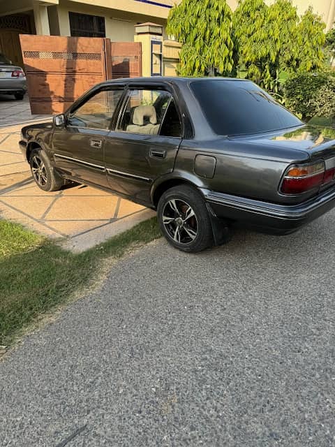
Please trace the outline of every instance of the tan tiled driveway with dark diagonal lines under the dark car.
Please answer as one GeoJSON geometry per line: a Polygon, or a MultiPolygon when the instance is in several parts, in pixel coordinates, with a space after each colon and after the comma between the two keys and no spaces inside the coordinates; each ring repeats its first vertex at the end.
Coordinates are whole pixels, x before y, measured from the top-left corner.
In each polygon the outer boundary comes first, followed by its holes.
{"type": "Polygon", "coordinates": [[[21,127],[0,128],[0,217],[49,237],[66,238],[65,247],[82,250],[154,215],[140,205],[88,186],[45,193],[31,178],[17,145],[21,127]]]}

